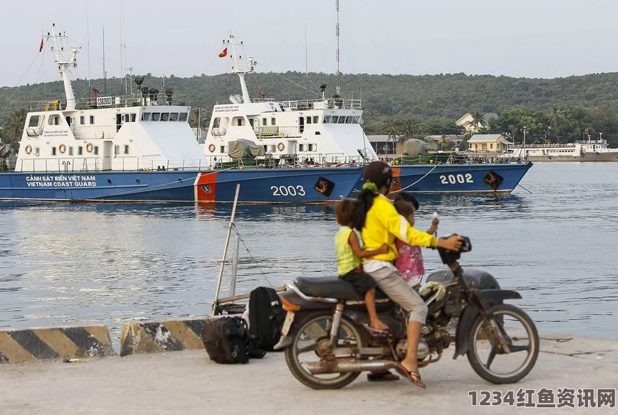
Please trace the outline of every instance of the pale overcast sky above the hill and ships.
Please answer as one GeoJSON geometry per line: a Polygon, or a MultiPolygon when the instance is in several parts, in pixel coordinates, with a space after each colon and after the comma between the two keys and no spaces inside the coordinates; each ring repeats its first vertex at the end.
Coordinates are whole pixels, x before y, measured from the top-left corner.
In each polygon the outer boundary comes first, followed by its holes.
{"type": "MultiPolygon", "coordinates": [[[[565,77],[618,71],[617,0],[340,0],[341,72],[565,77]]],[[[235,33],[260,72],[336,72],[334,0],[5,0],[0,86],[58,79],[52,24],[82,47],[76,77],[226,72],[235,33]],[[86,29],[86,28],[89,29],[86,29]],[[121,36],[122,33],[122,36],[121,36]],[[88,43],[90,47],[88,48],[88,43]],[[89,49],[89,53],[88,53],[89,49]],[[307,53],[305,53],[305,49],[307,53]],[[89,61],[89,70],[88,70],[89,61]],[[30,68],[29,68],[30,65],[30,68]],[[126,70],[125,70],[126,72],[126,70]],[[21,79],[21,80],[20,80],[21,79]]]]}

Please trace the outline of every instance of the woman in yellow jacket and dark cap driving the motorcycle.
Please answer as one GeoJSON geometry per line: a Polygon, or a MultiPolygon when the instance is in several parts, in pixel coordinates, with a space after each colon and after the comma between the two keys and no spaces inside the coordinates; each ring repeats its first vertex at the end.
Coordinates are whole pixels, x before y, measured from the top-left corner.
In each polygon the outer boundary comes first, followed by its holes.
{"type": "Polygon", "coordinates": [[[387,253],[366,258],[363,269],[376,280],[380,290],[409,313],[408,349],[405,359],[399,363],[396,370],[413,384],[425,388],[418,371],[417,348],[421,329],[427,317],[427,306],[418,293],[399,276],[393,265],[397,258],[395,240],[399,239],[410,245],[458,251],[462,239],[456,235],[438,239],[412,228],[408,220],[397,213],[386,197],[392,183],[392,169],[387,163],[367,164],[363,170],[363,179],[363,189],[358,196],[355,227],[361,232],[365,249],[378,249],[383,244],[389,246],[387,253]]]}

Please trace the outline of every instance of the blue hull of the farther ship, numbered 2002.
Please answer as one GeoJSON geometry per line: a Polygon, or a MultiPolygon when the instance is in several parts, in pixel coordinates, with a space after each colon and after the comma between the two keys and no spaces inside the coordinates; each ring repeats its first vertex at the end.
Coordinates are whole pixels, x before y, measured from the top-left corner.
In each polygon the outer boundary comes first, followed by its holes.
{"type": "MultiPolygon", "coordinates": [[[[532,163],[393,166],[392,191],[509,194],[530,167],[532,163]]],[[[356,186],[361,188],[362,180],[356,186]]]]}

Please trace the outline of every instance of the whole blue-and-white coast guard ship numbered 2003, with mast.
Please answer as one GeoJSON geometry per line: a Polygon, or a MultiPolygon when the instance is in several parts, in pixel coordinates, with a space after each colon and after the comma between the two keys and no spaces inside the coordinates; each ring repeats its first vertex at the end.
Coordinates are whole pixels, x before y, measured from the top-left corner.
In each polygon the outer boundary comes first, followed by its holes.
{"type": "Polygon", "coordinates": [[[142,78],[137,94],[77,100],[77,48],[53,26],[45,39],[65,98],[29,104],[15,166],[0,173],[1,200],[227,202],[240,182],[242,202],[320,203],[348,196],[360,178],[359,166],[215,171],[189,126],[187,97],[142,78]]]}

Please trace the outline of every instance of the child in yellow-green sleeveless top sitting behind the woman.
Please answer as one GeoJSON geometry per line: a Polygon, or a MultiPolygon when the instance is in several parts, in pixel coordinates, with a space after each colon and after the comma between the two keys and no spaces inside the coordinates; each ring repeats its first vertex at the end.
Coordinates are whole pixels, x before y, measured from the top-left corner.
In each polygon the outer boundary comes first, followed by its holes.
{"type": "Polygon", "coordinates": [[[339,232],[334,237],[335,251],[337,251],[337,274],[341,279],[354,285],[359,295],[363,295],[367,312],[369,313],[369,326],[372,329],[384,331],[388,329],[376,312],[376,281],[369,274],[362,270],[361,258],[386,253],[387,244],[383,244],[378,249],[366,250],[360,246],[360,238],[353,230],[356,201],[354,199],[343,199],[335,206],[337,214],[337,224],[341,226],[339,232]]]}

